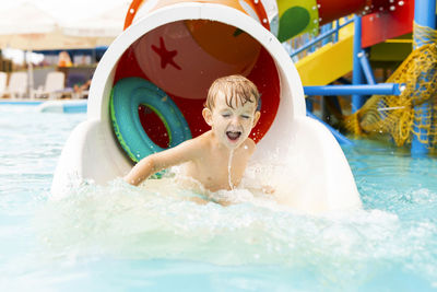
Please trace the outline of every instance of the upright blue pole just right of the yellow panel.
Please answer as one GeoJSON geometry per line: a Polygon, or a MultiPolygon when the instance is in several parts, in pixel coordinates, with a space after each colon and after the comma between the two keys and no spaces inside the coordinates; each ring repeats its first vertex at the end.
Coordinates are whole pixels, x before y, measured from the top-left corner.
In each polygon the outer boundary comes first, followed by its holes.
{"type": "MultiPolygon", "coordinates": [[[[354,16],[354,50],[353,50],[353,71],[352,71],[352,84],[358,85],[364,83],[363,68],[359,62],[359,52],[362,51],[362,17],[354,16]]],[[[352,95],[352,113],[355,113],[364,105],[364,96],[354,94],[352,95]]]]}

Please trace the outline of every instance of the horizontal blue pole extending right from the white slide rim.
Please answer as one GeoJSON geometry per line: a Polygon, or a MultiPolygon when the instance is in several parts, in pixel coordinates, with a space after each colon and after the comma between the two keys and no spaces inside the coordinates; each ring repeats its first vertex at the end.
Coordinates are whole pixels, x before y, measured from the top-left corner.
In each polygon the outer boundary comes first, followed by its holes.
{"type": "Polygon", "coordinates": [[[398,83],[380,83],[375,85],[323,85],[304,86],[305,95],[400,95],[398,83]]]}

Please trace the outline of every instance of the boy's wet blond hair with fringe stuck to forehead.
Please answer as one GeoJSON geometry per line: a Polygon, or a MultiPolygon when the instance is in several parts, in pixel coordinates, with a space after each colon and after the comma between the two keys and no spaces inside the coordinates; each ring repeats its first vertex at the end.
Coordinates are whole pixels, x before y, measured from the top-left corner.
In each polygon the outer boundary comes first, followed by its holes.
{"type": "Polygon", "coordinates": [[[257,86],[247,78],[243,75],[228,75],[216,79],[209,92],[204,106],[213,109],[215,98],[218,92],[223,92],[226,97],[226,105],[234,108],[236,106],[245,105],[246,103],[255,103],[258,106],[260,94],[257,86]],[[235,101],[235,102],[234,102],[235,101]]]}

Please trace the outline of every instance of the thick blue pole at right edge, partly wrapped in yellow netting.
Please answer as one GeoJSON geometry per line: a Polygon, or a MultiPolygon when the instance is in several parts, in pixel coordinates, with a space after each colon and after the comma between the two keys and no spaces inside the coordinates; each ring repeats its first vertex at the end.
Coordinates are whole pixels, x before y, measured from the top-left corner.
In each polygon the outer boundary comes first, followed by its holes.
{"type": "MultiPolygon", "coordinates": [[[[415,0],[414,1],[414,21],[421,26],[427,26],[436,30],[436,0],[415,0]]],[[[432,39],[424,39],[424,34],[417,35],[414,32],[414,43],[416,47],[422,47],[432,39]]],[[[418,77],[421,80],[421,77],[418,77]]],[[[424,72],[422,79],[426,79],[426,72],[424,72]]],[[[416,86],[420,91],[420,85],[416,86]]],[[[414,107],[414,127],[413,127],[413,140],[411,143],[411,154],[413,156],[424,156],[429,152],[429,130],[426,128],[430,122],[433,115],[433,108],[429,103],[423,103],[414,107]]]]}

